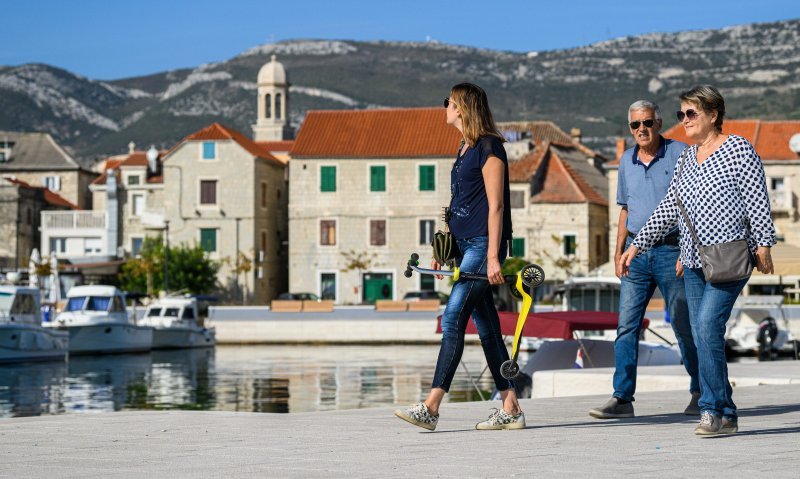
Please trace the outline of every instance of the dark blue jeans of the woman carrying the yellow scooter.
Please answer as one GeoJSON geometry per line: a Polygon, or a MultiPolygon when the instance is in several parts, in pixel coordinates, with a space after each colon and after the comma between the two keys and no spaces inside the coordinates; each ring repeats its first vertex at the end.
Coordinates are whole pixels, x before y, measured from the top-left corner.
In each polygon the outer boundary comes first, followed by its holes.
{"type": "MultiPolygon", "coordinates": [[[[501,243],[499,259],[502,265],[507,247],[504,241],[501,243]]],[[[486,236],[458,240],[461,256],[456,258],[456,264],[461,271],[486,274],[488,246],[489,238],[486,236]]],[[[494,307],[489,281],[463,278],[453,285],[450,299],[442,315],[442,347],[439,349],[439,359],[436,361],[436,372],[431,387],[450,390],[450,383],[464,352],[464,332],[470,316],[478,329],[483,354],[486,356],[495,386],[499,391],[513,387],[513,383],[500,374],[500,365],[508,360],[508,351],[500,332],[500,318],[494,307]]]]}

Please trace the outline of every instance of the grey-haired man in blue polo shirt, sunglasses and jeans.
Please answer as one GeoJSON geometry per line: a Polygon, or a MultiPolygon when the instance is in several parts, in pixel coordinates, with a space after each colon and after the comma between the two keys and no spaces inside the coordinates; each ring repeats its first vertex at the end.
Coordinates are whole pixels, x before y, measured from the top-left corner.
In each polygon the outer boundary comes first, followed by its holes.
{"type": "MultiPolygon", "coordinates": [[[[685,143],[668,140],[659,134],[661,111],[655,103],[640,100],[628,108],[628,124],[636,146],[626,150],[619,160],[617,204],[622,206],[617,229],[617,249],[614,264],[628,248],[636,233],[644,226],[661,200],[666,196],[675,173],[675,164],[685,143]]],[[[636,257],[630,274],[622,276],[620,289],[619,324],[614,342],[616,370],[614,395],[602,407],[589,410],[598,419],[633,417],[633,394],[636,391],[636,366],[639,360],[639,336],[645,309],[655,288],[661,291],[667,314],[681,350],[683,364],[691,377],[689,391],[692,399],[684,411],[699,415],[700,383],[697,378],[697,349],[689,325],[686,291],[683,286],[683,267],[678,246],[678,228],[669,232],[656,245],[636,257]]]]}

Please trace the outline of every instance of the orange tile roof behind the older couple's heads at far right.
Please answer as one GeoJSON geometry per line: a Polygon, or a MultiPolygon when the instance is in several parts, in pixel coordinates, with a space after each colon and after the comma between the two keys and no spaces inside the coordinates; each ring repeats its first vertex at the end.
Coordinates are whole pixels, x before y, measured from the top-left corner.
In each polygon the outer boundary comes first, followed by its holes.
{"type": "MultiPolygon", "coordinates": [[[[747,138],[764,161],[800,159],[789,149],[789,140],[800,133],[800,120],[725,120],[722,133],[747,138]]],[[[665,131],[664,136],[692,143],[680,123],[665,131]]]]}

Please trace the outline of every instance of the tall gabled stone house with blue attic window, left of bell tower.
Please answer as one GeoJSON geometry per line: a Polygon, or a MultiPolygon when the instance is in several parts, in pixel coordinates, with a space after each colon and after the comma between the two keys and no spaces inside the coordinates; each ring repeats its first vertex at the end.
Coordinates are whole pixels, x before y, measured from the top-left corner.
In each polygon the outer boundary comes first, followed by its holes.
{"type": "Polygon", "coordinates": [[[230,299],[264,304],[286,290],[286,163],[219,123],[162,158],[163,210],[171,244],[199,244],[220,261],[230,299]],[[252,270],[235,265],[251,262],[252,270]]]}

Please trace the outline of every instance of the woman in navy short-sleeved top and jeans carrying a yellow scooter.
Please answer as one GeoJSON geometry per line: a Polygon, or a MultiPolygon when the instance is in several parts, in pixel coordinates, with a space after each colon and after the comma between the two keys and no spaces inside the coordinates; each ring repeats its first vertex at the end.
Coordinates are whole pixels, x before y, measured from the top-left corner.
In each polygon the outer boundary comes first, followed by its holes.
{"type": "MultiPolygon", "coordinates": [[[[464,350],[464,332],[472,316],[494,378],[502,407],[477,429],[522,429],[525,415],[517,401],[514,384],[500,374],[508,351],[500,333],[500,319],[492,300],[490,284],[503,283],[501,265],[511,239],[508,160],[504,138],[497,130],[486,92],[477,85],[460,83],[445,98],[447,123],[457,128],[463,140],[450,172],[450,231],[456,237],[462,271],[481,273],[486,280],[460,279],[453,285],[442,316],[442,346],[433,384],[427,399],[395,415],[416,426],[434,430],[439,405],[450,389],[464,350]]],[[[434,260],[431,267],[439,269],[434,260]]],[[[441,279],[441,278],[440,278],[441,279]]]]}

